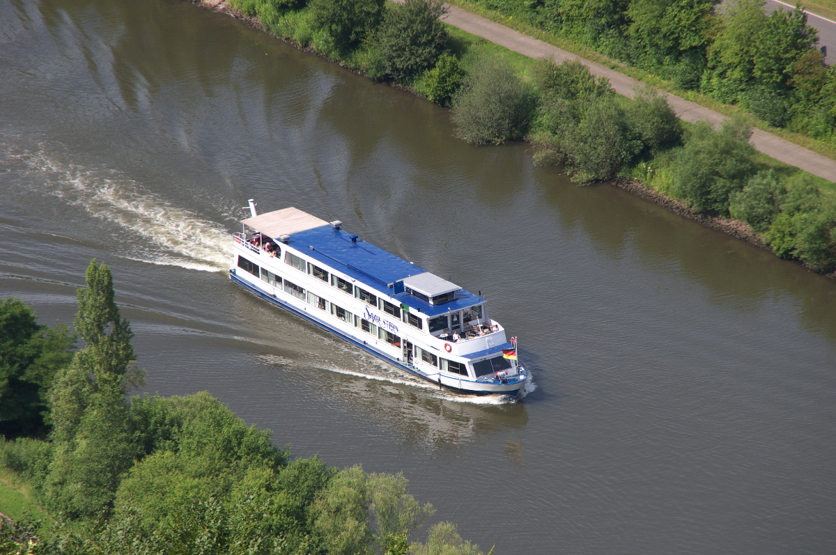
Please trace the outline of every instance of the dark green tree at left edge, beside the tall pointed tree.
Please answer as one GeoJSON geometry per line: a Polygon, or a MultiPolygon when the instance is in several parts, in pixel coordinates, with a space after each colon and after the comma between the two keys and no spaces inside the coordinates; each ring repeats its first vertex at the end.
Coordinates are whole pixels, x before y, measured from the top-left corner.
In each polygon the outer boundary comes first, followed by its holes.
{"type": "Polygon", "coordinates": [[[69,328],[38,324],[20,299],[0,302],[0,434],[33,433],[49,423],[48,391],[74,343],[69,328]]]}

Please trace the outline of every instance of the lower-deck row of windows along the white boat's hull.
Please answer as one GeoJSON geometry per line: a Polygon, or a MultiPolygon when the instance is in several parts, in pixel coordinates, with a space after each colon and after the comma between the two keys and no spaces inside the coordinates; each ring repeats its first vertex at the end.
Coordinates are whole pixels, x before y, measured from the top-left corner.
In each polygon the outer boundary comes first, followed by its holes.
{"type": "MultiPolygon", "coordinates": [[[[362,329],[366,334],[370,334],[377,339],[381,339],[393,347],[401,346],[400,337],[391,333],[388,329],[380,328],[374,323],[371,323],[369,320],[360,318],[357,314],[352,314],[345,308],[319,297],[319,295],[315,295],[310,291],[306,292],[304,288],[299,287],[287,279],[283,280],[281,276],[277,276],[266,268],[259,267],[256,263],[250,262],[245,257],[238,257],[238,267],[252,273],[252,275],[256,277],[260,277],[263,281],[272,285],[274,288],[281,288],[285,293],[303,300],[314,308],[319,308],[319,310],[330,313],[332,316],[345,323],[354,325],[355,328],[362,329]]],[[[432,366],[441,368],[446,372],[461,374],[463,376],[467,375],[467,367],[465,364],[461,364],[455,360],[442,359],[441,357],[437,357],[435,354],[432,354],[430,351],[421,349],[418,346],[415,346],[415,357],[420,358],[426,364],[431,364],[432,366]]]]}

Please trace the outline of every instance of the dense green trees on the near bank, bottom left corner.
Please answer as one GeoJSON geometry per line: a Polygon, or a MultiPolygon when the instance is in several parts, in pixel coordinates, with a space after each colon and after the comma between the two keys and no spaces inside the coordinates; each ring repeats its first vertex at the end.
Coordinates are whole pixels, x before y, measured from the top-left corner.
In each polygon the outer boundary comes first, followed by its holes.
{"type": "Polygon", "coordinates": [[[435,509],[403,473],[294,459],[205,391],[129,397],[144,372],[110,269],[85,282],[78,335],[0,301],[0,553],[482,555],[451,522],[415,539],[435,509]]]}

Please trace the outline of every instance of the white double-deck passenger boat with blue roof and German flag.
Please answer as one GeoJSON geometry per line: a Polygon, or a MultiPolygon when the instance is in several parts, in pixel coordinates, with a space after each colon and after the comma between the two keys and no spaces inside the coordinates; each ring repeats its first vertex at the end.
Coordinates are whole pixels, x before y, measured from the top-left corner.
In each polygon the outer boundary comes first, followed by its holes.
{"type": "Polygon", "coordinates": [[[232,281],[439,388],[516,396],[517,341],[485,299],[324,221],[284,208],[242,220],[232,281]]]}

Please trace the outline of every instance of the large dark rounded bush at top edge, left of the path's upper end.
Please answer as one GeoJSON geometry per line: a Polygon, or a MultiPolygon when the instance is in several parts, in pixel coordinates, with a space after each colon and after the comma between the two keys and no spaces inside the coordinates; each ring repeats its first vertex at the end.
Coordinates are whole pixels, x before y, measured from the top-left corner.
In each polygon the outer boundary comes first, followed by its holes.
{"type": "Polygon", "coordinates": [[[438,20],[441,0],[406,0],[392,4],[370,41],[367,73],[372,79],[408,83],[436,64],[450,37],[438,20]]]}

